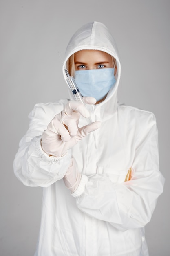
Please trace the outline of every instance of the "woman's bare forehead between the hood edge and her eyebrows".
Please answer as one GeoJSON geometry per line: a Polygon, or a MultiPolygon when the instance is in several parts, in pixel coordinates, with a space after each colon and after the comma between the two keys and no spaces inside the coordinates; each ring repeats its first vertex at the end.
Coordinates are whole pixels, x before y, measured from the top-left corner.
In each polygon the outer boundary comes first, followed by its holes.
{"type": "Polygon", "coordinates": [[[75,61],[83,61],[90,59],[97,61],[111,61],[112,57],[110,54],[98,50],[81,50],[75,53],[75,61]]]}

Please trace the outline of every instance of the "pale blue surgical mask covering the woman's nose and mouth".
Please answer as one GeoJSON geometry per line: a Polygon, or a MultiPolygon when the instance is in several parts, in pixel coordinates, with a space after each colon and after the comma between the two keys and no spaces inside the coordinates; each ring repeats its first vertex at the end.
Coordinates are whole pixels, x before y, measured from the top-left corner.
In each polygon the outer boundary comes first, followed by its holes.
{"type": "Polygon", "coordinates": [[[75,71],[75,82],[83,96],[104,98],[115,84],[114,68],[75,71]]]}

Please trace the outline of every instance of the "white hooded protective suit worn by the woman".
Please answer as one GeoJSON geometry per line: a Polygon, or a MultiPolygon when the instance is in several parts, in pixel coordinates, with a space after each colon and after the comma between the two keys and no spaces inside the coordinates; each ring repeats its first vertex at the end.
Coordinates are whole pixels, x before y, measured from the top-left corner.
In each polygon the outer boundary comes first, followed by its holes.
{"type": "MultiPolygon", "coordinates": [[[[24,185],[43,187],[35,255],[148,256],[144,226],[150,221],[164,182],[159,172],[155,116],[117,103],[120,62],[115,43],[102,23],[88,23],[74,34],[64,63],[82,49],[97,49],[114,56],[117,82],[102,103],[87,105],[92,120],[101,121],[102,126],[64,157],[46,155],[40,140],[68,99],[36,104],[29,115],[29,130],[20,141],[14,171],[24,185]],[[62,179],[71,157],[82,173],[72,194],[62,179]],[[124,182],[129,168],[131,180],[124,182]]],[[[79,126],[85,124],[81,117],[79,126]]]]}

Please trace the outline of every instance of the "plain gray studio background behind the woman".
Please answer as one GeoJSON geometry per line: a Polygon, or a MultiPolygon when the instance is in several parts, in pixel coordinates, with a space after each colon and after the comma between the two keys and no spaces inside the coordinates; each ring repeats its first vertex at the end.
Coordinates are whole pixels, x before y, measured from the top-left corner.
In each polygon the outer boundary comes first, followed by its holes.
{"type": "Polygon", "coordinates": [[[0,255],[32,256],[42,189],[13,174],[18,143],[35,103],[68,97],[62,63],[68,40],[84,23],[103,22],[121,57],[119,101],[155,113],[165,190],[146,226],[150,256],[169,256],[169,0],[0,1],[0,255]]]}

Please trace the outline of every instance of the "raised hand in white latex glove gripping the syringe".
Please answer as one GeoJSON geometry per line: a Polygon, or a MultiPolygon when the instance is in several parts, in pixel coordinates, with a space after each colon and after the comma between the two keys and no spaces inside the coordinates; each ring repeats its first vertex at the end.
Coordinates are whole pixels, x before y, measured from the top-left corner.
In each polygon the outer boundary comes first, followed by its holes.
{"type": "MultiPolygon", "coordinates": [[[[95,104],[93,97],[84,97],[84,102],[95,104]]],[[[81,128],[78,127],[80,115],[89,117],[89,112],[78,101],[69,101],[60,114],[55,115],[42,135],[42,149],[48,155],[61,157],[83,137],[97,130],[101,122],[95,121],[81,128]]]]}

